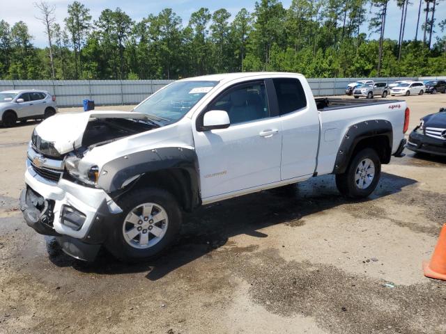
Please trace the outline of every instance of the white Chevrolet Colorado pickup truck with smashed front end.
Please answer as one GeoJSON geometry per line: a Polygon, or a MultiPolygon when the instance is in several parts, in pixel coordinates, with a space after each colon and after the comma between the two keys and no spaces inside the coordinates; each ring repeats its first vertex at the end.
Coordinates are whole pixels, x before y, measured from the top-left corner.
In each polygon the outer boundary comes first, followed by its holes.
{"type": "Polygon", "coordinates": [[[406,102],[314,99],[292,73],[175,81],[132,112],[62,113],[28,147],[20,207],[63,250],[93,260],[105,246],[144,260],[175,239],[181,212],[323,174],[344,196],[374,191],[400,157],[406,102]]]}

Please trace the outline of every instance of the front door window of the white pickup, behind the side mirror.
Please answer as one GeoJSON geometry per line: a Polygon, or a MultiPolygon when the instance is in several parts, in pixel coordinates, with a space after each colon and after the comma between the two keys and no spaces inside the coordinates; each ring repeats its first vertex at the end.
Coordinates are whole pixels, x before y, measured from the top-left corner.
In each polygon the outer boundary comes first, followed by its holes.
{"type": "Polygon", "coordinates": [[[263,82],[239,86],[213,101],[208,110],[224,110],[231,125],[270,117],[268,97],[263,82]]]}

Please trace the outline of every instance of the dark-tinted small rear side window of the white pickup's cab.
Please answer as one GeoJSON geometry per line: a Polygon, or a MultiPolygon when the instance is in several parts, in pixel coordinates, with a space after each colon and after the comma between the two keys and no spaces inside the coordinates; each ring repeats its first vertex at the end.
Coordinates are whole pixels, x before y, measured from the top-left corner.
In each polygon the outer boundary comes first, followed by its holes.
{"type": "Polygon", "coordinates": [[[307,106],[304,88],[298,79],[272,79],[279,103],[279,114],[285,115],[307,106]]]}

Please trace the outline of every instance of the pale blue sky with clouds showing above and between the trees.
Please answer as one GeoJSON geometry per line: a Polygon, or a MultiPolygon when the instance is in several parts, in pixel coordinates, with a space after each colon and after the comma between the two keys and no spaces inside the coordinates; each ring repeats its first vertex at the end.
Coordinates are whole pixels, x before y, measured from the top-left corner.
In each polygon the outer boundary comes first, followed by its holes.
{"type": "MultiPolygon", "coordinates": [[[[33,43],[38,47],[45,47],[47,44],[47,39],[44,33],[44,26],[42,22],[36,19],[38,16],[38,10],[34,8],[33,3],[36,0],[7,0],[2,5],[0,11],[0,19],[5,19],[6,22],[13,25],[15,22],[20,20],[24,21],[29,26],[29,31],[31,35],[34,36],[33,43]]],[[[63,19],[67,15],[67,6],[72,3],[73,0],[47,0],[48,3],[56,6],[56,22],[63,24],[63,19]]],[[[120,7],[125,11],[132,19],[139,21],[146,17],[148,14],[159,13],[163,8],[172,8],[180,17],[183,18],[183,24],[187,24],[190,15],[195,10],[201,7],[209,8],[211,12],[222,8],[228,10],[233,16],[236,15],[240,8],[247,8],[250,12],[254,10],[255,0],[225,0],[225,1],[204,1],[204,0],[164,0],[164,1],[150,1],[150,0],[127,0],[127,1],[117,1],[117,0],[84,0],[82,1],[86,7],[90,9],[93,19],[97,19],[100,12],[105,8],[115,9],[120,7]]],[[[407,19],[406,19],[406,30],[404,33],[405,39],[413,39],[415,37],[415,29],[417,25],[417,13],[420,0],[413,0],[414,4],[409,6],[407,19]]],[[[289,8],[291,0],[282,0],[284,8],[289,8]]],[[[424,3],[424,1],[423,1],[424,3]]],[[[369,6],[369,5],[368,5],[369,6]]],[[[424,6],[424,5],[422,5],[424,6]]],[[[369,7],[367,9],[370,9],[369,7]]],[[[420,29],[418,31],[418,36],[422,38],[421,24],[423,22],[424,16],[422,11],[422,18],[420,19],[420,29]]],[[[436,6],[436,22],[440,19],[446,17],[446,2],[440,2],[440,5],[436,6]]],[[[390,4],[387,11],[387,19],[385,26],[385,38],[392,38],[398,40],[399,35],[399,22],[401,19],[401,10],[397,8],[396,1],[390,0],[390,4]]],[[[434,34],[433,42],[435,42],[435,36],[440,35],[440,29],[437,30],[438,33],[434,34]]],[[[362,33],[367,33],[369,35],[368,22],[364,22],[361,27],[362,33]]],[[[370,38],[379,38],[379,35],[373,33],[369,35],[370,38]]],[[[433,43],[432,42],[432,43],[433,43]]]]}

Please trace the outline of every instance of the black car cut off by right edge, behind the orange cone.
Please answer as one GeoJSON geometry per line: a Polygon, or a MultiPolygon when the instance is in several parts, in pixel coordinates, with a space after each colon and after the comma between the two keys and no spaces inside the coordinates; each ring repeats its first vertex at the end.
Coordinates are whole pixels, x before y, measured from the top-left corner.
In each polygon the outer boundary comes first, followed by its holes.
{"type": "Polygon", "coordinates": [[[407,148],[414,152],[446,156],[446,109],[424,116],[410,133],[407,148]]]}

